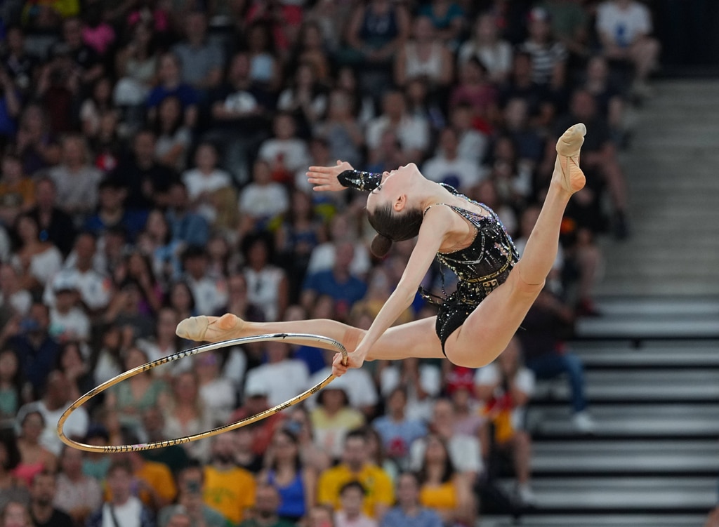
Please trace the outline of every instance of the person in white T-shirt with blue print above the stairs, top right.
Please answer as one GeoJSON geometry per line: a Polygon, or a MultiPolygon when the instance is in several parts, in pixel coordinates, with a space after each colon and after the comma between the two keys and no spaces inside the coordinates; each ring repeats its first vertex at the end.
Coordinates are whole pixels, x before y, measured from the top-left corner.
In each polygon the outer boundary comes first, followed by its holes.
{"type": "Polygon", "coordinates": [[[633,93],[651,95],[646,81],[656,68],[661,46],[651,37],[649,8],[636,0],[603,1],[597,6],[596,29],[606,58],[633,65],[633,93]]]}

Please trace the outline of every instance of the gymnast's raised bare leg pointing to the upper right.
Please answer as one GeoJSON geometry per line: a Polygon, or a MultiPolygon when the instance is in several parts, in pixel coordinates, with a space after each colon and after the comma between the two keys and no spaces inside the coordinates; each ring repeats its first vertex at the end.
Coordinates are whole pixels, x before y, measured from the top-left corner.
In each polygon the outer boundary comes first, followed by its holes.
{"type": "Polygon", "coordinates": [[[447,339],[447,358],[455,364],[481,367],[492,362],[507,347],[544,287],[544,279],[557,257],[564,208],[572,194],[585,185],[579,162],[586,131],[584,124],[575,124],[557,141],[549,192],[521,260],[507,281],[490,293],[447,339]]]}

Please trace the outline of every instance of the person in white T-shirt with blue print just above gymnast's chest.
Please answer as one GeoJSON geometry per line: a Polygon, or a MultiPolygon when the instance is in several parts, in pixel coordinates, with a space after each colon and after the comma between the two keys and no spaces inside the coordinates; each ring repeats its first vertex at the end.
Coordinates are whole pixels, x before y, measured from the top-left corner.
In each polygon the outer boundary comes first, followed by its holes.
{"type": "Polygon", "coordinates": [[[459,137],[452,127],[444,128],[439,134],[439,149],[427,160],[422,173],[436,183],[447,183],[462,193],[483,179],[479,165],[459,157],[459,137]]]}

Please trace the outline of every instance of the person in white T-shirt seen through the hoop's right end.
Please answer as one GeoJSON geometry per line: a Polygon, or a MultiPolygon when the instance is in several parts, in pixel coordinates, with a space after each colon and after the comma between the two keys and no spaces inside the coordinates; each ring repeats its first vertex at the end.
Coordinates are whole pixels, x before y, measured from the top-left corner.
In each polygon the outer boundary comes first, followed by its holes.
{"type": "Polygon", "coordinates": [[[264,385],[270,406],[284,403],[307,389],[307,365],[300,359],[288,358],[289,350],[283,342],[267,342],[267,362],[247,372],[245,385],[264,385]]]}

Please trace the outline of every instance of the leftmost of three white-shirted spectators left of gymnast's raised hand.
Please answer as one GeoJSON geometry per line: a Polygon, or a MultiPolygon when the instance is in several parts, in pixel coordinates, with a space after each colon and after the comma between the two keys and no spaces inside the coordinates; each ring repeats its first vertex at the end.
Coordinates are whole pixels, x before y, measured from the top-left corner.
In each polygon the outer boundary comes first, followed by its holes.
{"type": "Polygon", "coordinates": [[[215,146],[210,142],[201,142],[195,152],[196,168],[186,170],[182,175],[192,206],[209,223],[213,223],[217,216],[212,203],[213,194],[232,187],[232,178],[225,170],[217,168],[217,160],[215,146]]]}

